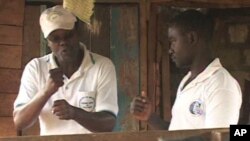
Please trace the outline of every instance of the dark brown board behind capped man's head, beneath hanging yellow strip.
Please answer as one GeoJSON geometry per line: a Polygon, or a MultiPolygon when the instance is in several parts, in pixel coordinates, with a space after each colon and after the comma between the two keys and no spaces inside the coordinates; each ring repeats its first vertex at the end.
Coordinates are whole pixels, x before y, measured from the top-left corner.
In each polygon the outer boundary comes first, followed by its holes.
{"type": "Polygon", "coordinates": [[[92,32],[85,23],[80,23],[81,41],[91,51],[110,57],[110,5],[96,4],[91,19],[92,32]]]}

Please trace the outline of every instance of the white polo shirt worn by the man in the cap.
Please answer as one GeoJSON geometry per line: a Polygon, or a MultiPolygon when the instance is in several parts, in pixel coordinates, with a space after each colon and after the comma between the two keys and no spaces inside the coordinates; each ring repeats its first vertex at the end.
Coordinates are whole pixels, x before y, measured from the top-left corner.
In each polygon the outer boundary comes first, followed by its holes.
{"type": "MultiPolygon", "coordinates": [[[[90,53],[83,44],[81,46],[84,49],[81,66],[70,79],[64,76],[64,85],[51,96],[39,115],[41,135],[90,133],[74,120],[59,120],[52,114],[53,102],[58,99],[65,99],[88,112],[109,111],[117,116],[117,80],[113,63],[106,57],[90,53]]],[[[24,69],[14,108],[28,103],[45,86],[49,70],[56,67],[52,54],[31,60],[24,69]]]]}

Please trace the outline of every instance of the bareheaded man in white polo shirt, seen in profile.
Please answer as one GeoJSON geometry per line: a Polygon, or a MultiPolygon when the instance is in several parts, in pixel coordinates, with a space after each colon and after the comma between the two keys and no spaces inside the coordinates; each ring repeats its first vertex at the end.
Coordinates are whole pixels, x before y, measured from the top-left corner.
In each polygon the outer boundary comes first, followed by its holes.
{"type": "Polygon", "coordinates": [[[238,82],[210,52],[213,22],[196,10],[187,10],[169,22],[169,54],[177,67],[187,68],[172,107],[172,119],[152,113],[151,101],[137,96],[131,113],[153,129],[186,130],[228,128],[237,124],[242,103],[238,82]]]}

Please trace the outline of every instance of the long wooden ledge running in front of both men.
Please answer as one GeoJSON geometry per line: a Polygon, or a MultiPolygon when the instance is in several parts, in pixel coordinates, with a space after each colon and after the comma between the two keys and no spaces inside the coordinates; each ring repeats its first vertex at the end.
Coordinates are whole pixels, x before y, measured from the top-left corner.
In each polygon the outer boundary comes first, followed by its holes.
{"type": "MultiPolygon", "coordinates": [[[[203,129],[186,131],[146,131],[146,132],[109,132],[76,135],[53,135],[53,136],[25,136],[25,137],[5,137],[0,141],[159,141],[159,140],[211,140],[212,132],[221,132],[223,129],[203,129]]],[[[229,130],[224,129],[222,134],[229,130]]],[[[226,138],[221,138],[226,139],[226,138]]],[[[222,140],[215,140],[222,141],[222,140]]]]}

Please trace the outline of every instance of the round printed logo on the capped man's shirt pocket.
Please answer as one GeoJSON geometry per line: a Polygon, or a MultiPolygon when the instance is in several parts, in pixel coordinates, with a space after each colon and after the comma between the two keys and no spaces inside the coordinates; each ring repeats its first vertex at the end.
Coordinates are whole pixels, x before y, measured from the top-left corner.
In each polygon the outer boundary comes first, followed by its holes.
{"type": "Polygon", "coordinates": [[[95,107],[95,98],[91,96],[82,97],[79,101],[79,107],[88,112],[92,112],[95,107]]]}

